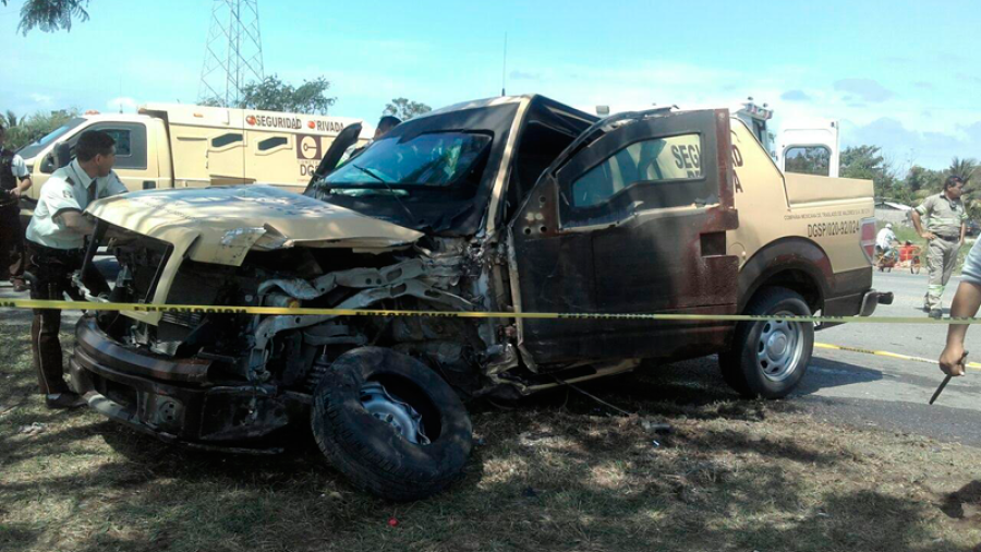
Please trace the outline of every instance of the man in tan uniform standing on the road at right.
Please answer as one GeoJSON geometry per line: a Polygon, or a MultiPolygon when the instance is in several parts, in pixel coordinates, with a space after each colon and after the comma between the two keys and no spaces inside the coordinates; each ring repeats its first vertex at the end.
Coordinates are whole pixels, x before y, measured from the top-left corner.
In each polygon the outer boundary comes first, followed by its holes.
{"type": "Polygon", "coordinates": [[[957,253],[967,232],[967,212],[960,201],[962,193],[964,181],[960,177],[947,177],[943,193],[927,197],[912,212],[913,226],[928,243],[927,268],[930,271],[930,280],[923,309],[935,319],[944,314],[941,302],[944,287],[957,264],[957,253]],[[925,230],[922,217],[927,217],[925,230]]]}

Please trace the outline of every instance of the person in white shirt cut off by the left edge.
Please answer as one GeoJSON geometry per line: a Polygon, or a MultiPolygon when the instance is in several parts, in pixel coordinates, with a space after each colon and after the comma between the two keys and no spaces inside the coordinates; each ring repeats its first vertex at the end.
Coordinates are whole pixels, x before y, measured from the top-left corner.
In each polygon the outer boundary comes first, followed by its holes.
{"type": "Polygon", "coordinates": [[[0,278],[9,278],[14,291],[26,291],[20,203],[21,195],[31,188],[31,173],[24,159],[3,146],[5,134],[7,129],[0,124],[0,278]]]}

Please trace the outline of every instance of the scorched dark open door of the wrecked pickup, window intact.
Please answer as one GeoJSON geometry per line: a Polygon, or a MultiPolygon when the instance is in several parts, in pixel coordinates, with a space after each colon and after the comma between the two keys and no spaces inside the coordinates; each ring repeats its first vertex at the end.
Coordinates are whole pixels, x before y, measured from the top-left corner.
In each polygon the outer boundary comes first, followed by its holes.
{"type": "MultiPolygon", "coordinates": [[[[735,313],[738,260],[725,232],[737,226],[727,110],[628,118],[573,143],[511,224],[516,309],[735,313]]],[[[525,320],[519,334],[541,365],[705,353],[729,328],[562,319],[525,320]]]]}

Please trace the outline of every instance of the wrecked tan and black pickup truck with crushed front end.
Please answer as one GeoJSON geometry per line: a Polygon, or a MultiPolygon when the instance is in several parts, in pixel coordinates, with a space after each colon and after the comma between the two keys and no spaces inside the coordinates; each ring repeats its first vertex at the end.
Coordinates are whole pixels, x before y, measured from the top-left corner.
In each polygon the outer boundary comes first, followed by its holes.
{"type": "MultiPolygon", "coordinates": [[[[351,134],[351,133],[349,133],[351,134]]],[[[261,449],[310,423],[329,463],[395,500],[462,470],[461,397],[520,397],[718,355],[747,396],[807,370],[811,324],[774,320],[254,315],[228,305],[457,312],[871,314],[871,182],[783,175],[726,110],[597,120],[541,96],[408,121],[303,195],[145,191],[94,203],[118,302],[87,315],[71,381],[169,442],[261,449]]]]}

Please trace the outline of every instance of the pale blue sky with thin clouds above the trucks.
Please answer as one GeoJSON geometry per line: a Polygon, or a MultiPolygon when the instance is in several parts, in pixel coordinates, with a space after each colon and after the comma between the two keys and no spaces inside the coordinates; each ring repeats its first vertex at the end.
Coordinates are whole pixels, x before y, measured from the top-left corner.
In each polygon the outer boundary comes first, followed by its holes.
{"type": "MultiPolygon", "coordinates": [[[[71,33],[23,37],[12,0],[0,8],[0,109],[193,103],[211,3],[93,0],[71,33]]],[[[374,121],[393,97],[439,107],[499,94],[507,32],[509,94],[588,109],[753,96],[780,119],[839,119],[844,145],[881,145],[904,170],[981,158],[977,2],[605,4],[259,0],[265,71],[324,75],[332,115],[374,121]]]]}

